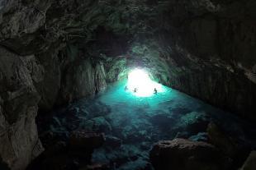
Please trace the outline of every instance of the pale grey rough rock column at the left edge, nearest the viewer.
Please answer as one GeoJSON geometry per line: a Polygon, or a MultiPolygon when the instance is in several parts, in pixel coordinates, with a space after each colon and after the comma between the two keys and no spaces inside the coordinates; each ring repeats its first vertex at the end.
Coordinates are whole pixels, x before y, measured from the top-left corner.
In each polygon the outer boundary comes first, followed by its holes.
{"type": "Polygon", "coordinates": [[[40,95],[33,85],[42,74],[35,57],[5,48],[0,53],[0,155],[11,169],[20,170],[43,150],[35,122],[40,95]]]}

